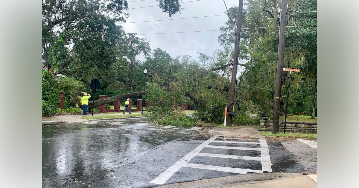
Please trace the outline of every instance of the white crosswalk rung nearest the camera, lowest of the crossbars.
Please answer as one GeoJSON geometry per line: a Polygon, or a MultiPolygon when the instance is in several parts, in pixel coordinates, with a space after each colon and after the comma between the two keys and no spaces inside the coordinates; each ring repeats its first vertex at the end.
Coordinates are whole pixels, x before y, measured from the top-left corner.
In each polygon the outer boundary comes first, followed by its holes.
{"type": "Polygon", "coordinates": [[[251,170],[251,169],[243,169],[243,168],[231,168],[231,167],[219,167],[219,166],[212,166],[206,164],[194,164],[194,163],[186,163],[183,167],[190,167],[190,168],[200,168],[200,169],[207,169],[207,170],[216,170],[221,172],[232,172],[238,174],[247,174],[247,172],[255,172],[255,173],[263,173],[262,170],[251,170]]]}

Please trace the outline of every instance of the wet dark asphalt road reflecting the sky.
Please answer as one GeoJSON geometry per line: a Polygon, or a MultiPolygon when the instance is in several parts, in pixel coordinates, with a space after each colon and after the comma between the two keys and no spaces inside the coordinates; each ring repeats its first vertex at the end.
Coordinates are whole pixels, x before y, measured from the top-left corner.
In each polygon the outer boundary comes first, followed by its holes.
{"type": "MultiPolygon", "coordinates": [[[[201,130],[189,130],[191,127],[147,124],[143,118],[42,126],[44,188],[156,187],[159,184],[150,183],[151,180],[213,136],[201,130]]],[[[304,171],[305,167],[280,142],[267,143],[272,172],[304,171]]],[[[237,143],[209,145],[260,147],[237,143]]],[[[221,148],[204,148],[200,153],[253,157],[261,154],[255,150],[221,148]]],[[[189,163],[262,170],[261,162],[255,160],[195,156],[189,163]]],[[[239,174],[182,167],[164,184],[231,175],[239,174]]]]}

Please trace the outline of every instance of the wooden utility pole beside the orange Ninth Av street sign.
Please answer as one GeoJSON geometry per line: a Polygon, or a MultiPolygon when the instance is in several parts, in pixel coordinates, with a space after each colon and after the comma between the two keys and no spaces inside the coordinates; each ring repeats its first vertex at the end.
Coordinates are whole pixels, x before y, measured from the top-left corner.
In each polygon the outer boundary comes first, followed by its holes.
{"type": "Polygon", "coordinates": [[[279,44],[278,44],[278,65],[275,78],[275,91],[273,101],[273,133],[279,132],[280,115],[280,94],[282,91],[283,60],[284,60],[284,39],[285,39],[285,15],[287,13],[287,1],[282,0],[279,24],[279,44]]]}

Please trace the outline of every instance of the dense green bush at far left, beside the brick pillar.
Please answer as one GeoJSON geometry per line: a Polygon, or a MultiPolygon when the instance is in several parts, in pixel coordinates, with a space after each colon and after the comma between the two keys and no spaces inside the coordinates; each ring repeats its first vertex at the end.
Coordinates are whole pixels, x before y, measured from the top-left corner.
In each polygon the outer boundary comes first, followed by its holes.
{"type": "Polygon", "coordinates": [[[60,103],[57,81],[51,72],[42,70],[42,116],[56,114],[60,103]]]}

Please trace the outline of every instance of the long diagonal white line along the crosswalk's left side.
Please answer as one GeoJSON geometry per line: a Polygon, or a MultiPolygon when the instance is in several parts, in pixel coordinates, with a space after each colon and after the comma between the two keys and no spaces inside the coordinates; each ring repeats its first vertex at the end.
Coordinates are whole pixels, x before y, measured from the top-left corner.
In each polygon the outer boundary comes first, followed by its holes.
{"type": "Polygon", "coordinates": [[[190,161],[192,158],[194,158],[203,148],[205,148],[206,145],[211,143],[213,140],[218,138],[219,135],[216,135],[208,140],[206,140],[204,143],[200,144],[192,150],[190,153],[188,153],[186,156],[184,156],[182,159],[180,159],[177,163],[174,163],[171,167],[169,167],[167,170],[165,170],[162,174],[160,174],[157,178],[150,181],[150,183],[155,184],[164,184],[168,178],[170,178],[174,173],[177,172],[181,167],[183,167],[184,164],[186,164],[188,161],[190,161]]]}

